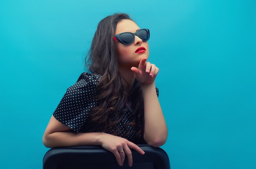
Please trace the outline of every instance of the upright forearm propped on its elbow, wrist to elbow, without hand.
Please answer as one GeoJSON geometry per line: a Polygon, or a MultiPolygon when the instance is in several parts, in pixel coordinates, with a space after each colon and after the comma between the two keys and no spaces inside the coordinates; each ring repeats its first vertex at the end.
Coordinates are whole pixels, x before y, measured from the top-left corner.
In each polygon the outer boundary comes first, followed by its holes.
{"type": "Polygon", "coordinates": [[[166,142],[167,126],[155,91],[155,81],[141,85],[144,98],[144,140],[159,147],[166,142]]]}

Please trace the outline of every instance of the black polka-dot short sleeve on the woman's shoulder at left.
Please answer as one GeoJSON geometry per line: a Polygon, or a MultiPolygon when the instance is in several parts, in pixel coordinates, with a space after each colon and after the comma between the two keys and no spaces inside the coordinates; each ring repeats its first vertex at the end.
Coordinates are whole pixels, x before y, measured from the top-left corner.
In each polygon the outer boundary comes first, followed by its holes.
{"type": "Polygon", "coordinates": [[[62,124],[78,133],[88,120],[88,113],[97,104],[97,78],[83,72],[76,83],[69,87],[53,116],[62,124]]]}

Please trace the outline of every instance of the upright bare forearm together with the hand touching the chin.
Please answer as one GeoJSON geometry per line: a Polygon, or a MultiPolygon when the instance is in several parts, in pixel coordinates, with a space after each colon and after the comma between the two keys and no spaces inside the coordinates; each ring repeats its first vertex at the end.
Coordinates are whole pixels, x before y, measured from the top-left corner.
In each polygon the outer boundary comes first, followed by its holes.
{"type": "Polygon", "coordinates": [[[159,68],[148,58],[141,58],[138,67],[131,67],[135,78],[141,84],[144,98],[144,140],[153,147],[164,145],[167,140],[167,126],[155,90],[155,78],[159,68]]]}

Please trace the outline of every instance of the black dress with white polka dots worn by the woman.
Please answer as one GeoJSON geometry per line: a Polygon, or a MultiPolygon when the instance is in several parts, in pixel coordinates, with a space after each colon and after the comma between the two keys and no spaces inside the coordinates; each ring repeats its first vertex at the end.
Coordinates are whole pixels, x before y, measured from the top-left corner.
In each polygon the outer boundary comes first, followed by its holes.
{"type": "MultiPolygon", "coordinates": [[[[101,75],[88,72],[81,73],[76,83],[67,89],[61,102],[55,109],[53,116],[76,133],[86,133],[93,129],[94,126],[90,123],[88,113],[90,113],[92,107],[97,106],[97,100],[95,99],[95,96],[97,96],[96,87],[101,77],[101,75]]],[[[156,92],[158,97],[159,90],[157,87],[156,92]]],[[[138,129],[132,125],[128,125],[129,122],[133,121],[131,118],[132,110],[128,109],[128,107],[124,108],[127,108],[127,110],[124,112],[123,119],[117,123],[120,127],[120,132],[117,136],[124,138],[124,133],[128,133],[129,130],[130,134],[125,138],[134,142],[134,137],[138,129]],[[126,129],[123,124],[128,125],[128,127],[126,127],[128,129],[126,129]]],[[[116,113],[112,120],[115,121],[115,119],[119,119],[118,115],[119,113],[116,113]]],[[[99,132],[99,130],[96,128],[95,131],[91,132],[99,132]]],[[[110,129],[106,129],[105,133],[113,134],[110,129]]],[[[143,141],[138,144],[146,144],[146,142],[143,141]]]]}

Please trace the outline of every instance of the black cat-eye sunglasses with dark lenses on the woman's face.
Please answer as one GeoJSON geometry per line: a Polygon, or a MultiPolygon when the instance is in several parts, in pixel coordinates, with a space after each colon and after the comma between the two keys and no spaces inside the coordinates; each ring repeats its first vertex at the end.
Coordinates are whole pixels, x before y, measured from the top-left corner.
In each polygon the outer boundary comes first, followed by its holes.
{"type": "Polygon", "coordinates": [[[118,40],[121,44],[132,44],[135,40],[135,35],[138,36],[142,41],[149,40],[149,29],[138,29],[135,33],[123,32],[114,36],[114,40],[118,40]]]}

